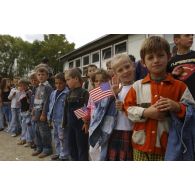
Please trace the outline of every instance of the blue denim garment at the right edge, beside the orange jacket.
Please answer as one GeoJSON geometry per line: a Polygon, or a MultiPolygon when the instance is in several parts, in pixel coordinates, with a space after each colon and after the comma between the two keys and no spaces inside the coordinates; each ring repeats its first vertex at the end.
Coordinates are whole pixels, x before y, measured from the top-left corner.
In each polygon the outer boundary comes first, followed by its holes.
{"type": "Polygon", "coordinates": [[[183,121],[171,115],[172,125],[165,153],[167,161],[195,160],[195,107],[188,105],[183,121]]]}

